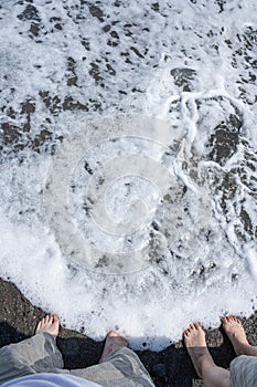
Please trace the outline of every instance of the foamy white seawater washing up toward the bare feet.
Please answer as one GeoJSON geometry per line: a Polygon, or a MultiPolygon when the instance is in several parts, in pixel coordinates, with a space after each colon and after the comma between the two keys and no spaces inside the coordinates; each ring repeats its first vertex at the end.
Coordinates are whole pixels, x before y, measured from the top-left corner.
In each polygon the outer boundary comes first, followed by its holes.
{"type": "Polygon", "coordinates": [[[256,14],[250,0],[1,3],[3,279],[133,348],[256,310],[256,14]]]}

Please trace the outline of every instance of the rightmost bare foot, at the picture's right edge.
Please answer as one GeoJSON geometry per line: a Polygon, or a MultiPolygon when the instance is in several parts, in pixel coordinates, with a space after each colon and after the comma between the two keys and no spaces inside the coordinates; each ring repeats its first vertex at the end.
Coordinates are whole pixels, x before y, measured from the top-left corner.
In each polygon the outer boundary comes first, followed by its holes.
{"type": "Polygon", "coordinates": [[[225,316],[222,318],[223,330],[227,334],[237,355],[257,355],[257,349],[253,347],[246,337],[245,330],[239,318],[225,316]]]}

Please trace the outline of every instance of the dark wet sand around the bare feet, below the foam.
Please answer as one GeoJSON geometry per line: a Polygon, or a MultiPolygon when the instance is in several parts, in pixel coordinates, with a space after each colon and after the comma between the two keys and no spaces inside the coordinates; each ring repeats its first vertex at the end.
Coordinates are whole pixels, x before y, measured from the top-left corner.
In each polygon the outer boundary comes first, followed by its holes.
{"type": "MultiPolygon", "coordinates": [[[[46,311],[33,306],[12,283],[0,280],[0,347],[33,335],[38,321],[45,313],[46,311]]],[[[257,313],[244,320],[244,326],[249,342],[256,345],[257,313]]],[[[222,330],[208,330],[207,343],[216,364],[228,367],[236,355],[222,330]]],[[[98,363],[104,343],[62,327],[57,345],[63,354],[65,368],[81,368],[98,363]]],[[[157,387],[203,386],[181,341],[160,353],[143,351],[138,352],[138,355],[157,387]]]]}

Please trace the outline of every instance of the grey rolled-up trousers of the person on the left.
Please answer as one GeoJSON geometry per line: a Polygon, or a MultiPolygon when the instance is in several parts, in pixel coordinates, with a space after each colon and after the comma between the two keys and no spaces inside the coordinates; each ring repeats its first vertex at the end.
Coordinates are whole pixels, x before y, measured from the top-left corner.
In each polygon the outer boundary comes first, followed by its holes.
{"type": "Polygon", "coordinates": [[[154,387],[139,357],[127,347],[88,368],[68,370],[63,369],[63,366],[55,337],[40,333],[0,348],[0,385],[22,376],[53,373],[71,374],[104,387],[154,387]]]}

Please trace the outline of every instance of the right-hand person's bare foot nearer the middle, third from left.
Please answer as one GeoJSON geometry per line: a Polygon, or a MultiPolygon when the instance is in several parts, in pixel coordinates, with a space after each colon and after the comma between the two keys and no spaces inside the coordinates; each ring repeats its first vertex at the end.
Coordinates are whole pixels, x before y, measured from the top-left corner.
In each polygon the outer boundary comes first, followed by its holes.
{"type": "Polygon", "coordinates": [[[207,349],[205,333],[200,323],[190,324],[183,333],[184,344],[200,377],[203,377],[203,364],[214,366],[207,349]]]}

